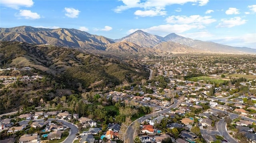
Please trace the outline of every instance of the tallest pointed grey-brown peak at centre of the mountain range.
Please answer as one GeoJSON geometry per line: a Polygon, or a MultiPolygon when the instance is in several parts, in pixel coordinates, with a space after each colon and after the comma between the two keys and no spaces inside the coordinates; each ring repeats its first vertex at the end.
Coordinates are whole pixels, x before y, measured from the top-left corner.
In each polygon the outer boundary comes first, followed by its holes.
{"type": "Polygon", "coordinates": [[[162,43],[163,39],[160,36],[152,35],[150,33],[146,33],[142,30],[137,30],[134,33],[131,33],[130,35],[123,37],[121,39],[116,39],[116,42],[119,41],[129,41],[132,43],[135,43],[136,45],[139,45],[141,47],[154,47],[155,45],[162,43]]]}

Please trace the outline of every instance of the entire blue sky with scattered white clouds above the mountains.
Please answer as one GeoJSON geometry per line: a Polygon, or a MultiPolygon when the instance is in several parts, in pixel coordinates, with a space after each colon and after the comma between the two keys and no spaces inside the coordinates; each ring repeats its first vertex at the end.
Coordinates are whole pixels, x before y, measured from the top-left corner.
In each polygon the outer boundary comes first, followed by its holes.
{"type": "Polygon", "coordinates": [[[256,49],[255,0],[1,0],[0,27],[21,25],[112,39],[141,29],[256,49]]]}

